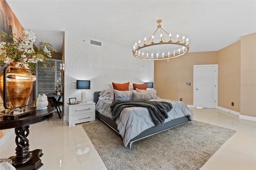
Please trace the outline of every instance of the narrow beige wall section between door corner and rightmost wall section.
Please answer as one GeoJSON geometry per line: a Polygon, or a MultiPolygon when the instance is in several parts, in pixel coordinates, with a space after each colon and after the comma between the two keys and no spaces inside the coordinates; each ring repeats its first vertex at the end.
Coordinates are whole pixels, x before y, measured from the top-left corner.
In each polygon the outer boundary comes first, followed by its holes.
{"type": "Polygon", "coordinates": [[[217,52],[218,106],[240,112],[241,43],[233,43],[217,52]],[[234,106],[231,103],[234,102],[234,106]]]}

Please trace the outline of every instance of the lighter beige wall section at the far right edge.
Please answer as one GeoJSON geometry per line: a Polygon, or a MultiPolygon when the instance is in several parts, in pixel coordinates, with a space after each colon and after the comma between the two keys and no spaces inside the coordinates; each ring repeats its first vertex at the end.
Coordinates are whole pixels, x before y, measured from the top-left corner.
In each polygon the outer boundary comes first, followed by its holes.
{"type": "Polygon", "coordinates": [[[241,37],[240,114],[256,117],[256,33],[241,37]]]}

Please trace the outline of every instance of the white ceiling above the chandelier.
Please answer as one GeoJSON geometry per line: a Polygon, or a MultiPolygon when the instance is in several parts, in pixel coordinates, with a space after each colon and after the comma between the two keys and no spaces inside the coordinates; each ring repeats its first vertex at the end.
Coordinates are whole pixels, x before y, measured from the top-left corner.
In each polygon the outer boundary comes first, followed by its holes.
{"type": "Polygon", "coordinates": [[[6,0],[24,27],[59,52],[64,32],[132,49],[156,21],[189,38],[189,52],[218,51],[256,32],[256,0],[6,0]]]}

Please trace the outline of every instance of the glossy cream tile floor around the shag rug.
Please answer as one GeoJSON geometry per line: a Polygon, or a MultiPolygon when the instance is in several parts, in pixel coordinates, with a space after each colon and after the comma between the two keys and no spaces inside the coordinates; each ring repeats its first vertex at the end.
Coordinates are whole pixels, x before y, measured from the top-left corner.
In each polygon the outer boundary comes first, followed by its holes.
{"type": "MultiPolygon", "coordinates": [[[[194,120],[236,130],[200,170],[256,170],[256,122],[219,109],[190,108],[194,120]]],[[[106,170],[82,124],[68,127],[58,119],[30,125],[30,150],[43,150],[40,170],[106,170]],[[84,154],[87,150],[86,154],[84,154]]],[[[0,158],[15,155],[15,135],[0,148],[0,158]]]]}

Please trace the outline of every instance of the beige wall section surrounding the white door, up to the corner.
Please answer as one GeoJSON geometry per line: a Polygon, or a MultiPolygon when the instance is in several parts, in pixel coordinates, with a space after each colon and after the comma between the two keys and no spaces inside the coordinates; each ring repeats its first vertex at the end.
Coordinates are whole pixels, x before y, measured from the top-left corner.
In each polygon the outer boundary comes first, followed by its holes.
{"type": "Polygon", "coordinates": [[[193,52],[181,57],[154,61],[154,89],[157,96],[193,105],[194,65],[217,64],[217,52],[193,52]],[[191,83],[187,86],[186,83],[191,83]]]}

